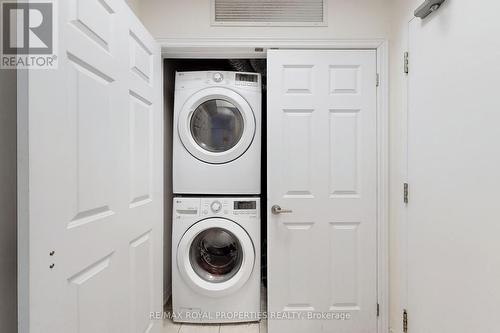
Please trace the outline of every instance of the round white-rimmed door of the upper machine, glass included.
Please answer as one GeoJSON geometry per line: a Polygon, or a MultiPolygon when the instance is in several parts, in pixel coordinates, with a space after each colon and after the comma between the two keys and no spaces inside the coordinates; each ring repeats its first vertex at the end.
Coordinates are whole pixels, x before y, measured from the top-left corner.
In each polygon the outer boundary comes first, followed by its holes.
{"type": "Polygon", "coordinates": [[[184,104],[178,121],[181,141],[191,155],[213,164],[245,153],[255,135],[255,117],[238,93],[221,87],[198,91],[184,104]]]}

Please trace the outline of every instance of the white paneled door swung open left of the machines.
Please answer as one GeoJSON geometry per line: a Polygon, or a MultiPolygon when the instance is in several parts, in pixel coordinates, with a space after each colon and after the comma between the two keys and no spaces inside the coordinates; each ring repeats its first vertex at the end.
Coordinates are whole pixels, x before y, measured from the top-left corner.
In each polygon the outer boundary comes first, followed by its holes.
{"type": "Polygon", "coordinates": [[[19,75],[20,332],[158,332],[160,49],[122,0],[57,15],[59,68],[19,75]]]}

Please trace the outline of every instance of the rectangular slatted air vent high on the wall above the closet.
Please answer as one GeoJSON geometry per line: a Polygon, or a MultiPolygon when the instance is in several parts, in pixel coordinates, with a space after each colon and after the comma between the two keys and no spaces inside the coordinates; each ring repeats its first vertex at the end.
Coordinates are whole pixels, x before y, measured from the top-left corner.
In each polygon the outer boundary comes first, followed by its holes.
{"type": "Polygon", "coordinates": [[[211,0],[212,25],[326,26],[327,0],[211,0]]]}

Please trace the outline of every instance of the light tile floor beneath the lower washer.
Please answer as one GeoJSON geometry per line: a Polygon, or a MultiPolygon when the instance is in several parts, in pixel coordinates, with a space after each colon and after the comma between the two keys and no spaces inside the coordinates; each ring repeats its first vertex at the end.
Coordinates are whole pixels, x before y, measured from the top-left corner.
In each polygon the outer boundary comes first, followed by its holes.
{"type": "MultiPolygon", "coordinates": [[[[261,311],[266,311],[266,290],[261,290],[261,311]]],[[[165,306],[165,311],[172,311],[171,302],[165,306]]],[[[162,333],[267,333],[267,320],[259,323],[241,324],[181,324],[170,319],[163,321],[162,333]]]]}

